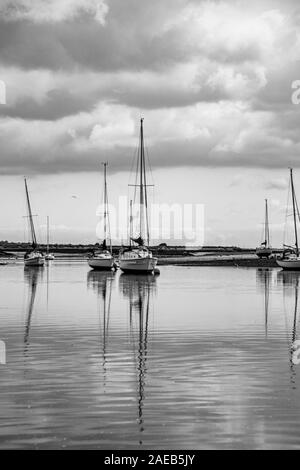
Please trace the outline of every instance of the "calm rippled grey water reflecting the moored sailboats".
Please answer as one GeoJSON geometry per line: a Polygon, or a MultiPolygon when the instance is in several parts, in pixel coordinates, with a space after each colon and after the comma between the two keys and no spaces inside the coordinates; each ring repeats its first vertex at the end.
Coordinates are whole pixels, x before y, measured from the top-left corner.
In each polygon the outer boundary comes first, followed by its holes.
{"type": "Polygon", "coordinates": [[[1,266],[0,447],[300,448],[299,284],[1,266]]]}

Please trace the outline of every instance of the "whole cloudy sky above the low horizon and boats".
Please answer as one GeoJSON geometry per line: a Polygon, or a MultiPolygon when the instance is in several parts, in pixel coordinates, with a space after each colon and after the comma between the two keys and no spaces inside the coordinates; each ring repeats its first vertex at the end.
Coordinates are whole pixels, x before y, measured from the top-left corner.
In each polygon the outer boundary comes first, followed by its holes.
{"type": "Polygon", "coordinates": [[[1,0],[0,239],[27,239],[24,175],[40,241],[47,215],[53,242],[101,238],[101,162],[118,206],[143,117],[157,203],[201,205],[204,244],[253,247],[268,198],[280,246],[299,25],[297,0],[1,0]]]}

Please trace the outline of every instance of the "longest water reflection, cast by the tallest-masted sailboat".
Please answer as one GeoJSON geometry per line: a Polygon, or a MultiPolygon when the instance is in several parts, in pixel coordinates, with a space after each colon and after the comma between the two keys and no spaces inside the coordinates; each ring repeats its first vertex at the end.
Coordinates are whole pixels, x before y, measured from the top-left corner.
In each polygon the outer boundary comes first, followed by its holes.
{"type": "Polygon", "coordinates": [[[140,441],[144,431],[143,408],[145,402],[148,332],[151,293],[156,286],[156,278],[152,275],[121,274],[120,288],[125,297],[129,299],[130,340],[134,348],[137,369],[138,392],[138,423],[140,441]],[[136,315],[135,315],[136,314],[136,315]],[[138,347],[135,338],[138,337],[138,347]]]}

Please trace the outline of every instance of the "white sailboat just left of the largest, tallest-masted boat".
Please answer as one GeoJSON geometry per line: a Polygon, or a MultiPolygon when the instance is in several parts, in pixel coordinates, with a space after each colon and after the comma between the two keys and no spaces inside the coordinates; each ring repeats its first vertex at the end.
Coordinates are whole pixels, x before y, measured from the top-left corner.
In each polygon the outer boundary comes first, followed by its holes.
{"type": "MultiPolygon", "coordinates": [[[[111,239],[109,240],[109,248],[107,246],[107,232],[110,232],[109,226],[109,213],[108,213],[108,196],[107,196],[107,162],[103,163],[104,166],[104,239],[100,249],[94,251],[92,256],[88,259],[88,264],[93,269],[112,269],[115,267],[115,260],[112,255],[111,239]]],[[[110,233],[108,233],[110,236],[110,233]]]]}

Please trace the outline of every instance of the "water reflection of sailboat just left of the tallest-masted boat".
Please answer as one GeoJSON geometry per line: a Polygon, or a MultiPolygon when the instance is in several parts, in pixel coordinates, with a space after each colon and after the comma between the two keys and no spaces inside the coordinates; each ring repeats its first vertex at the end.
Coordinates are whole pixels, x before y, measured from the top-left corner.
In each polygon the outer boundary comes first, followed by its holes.
{"type": "Polygon", "coordinates": [[[87,275],[87,285],[92,288],[99,301],[99,319],[100,328],[102,334],[102,355],[103,355],[103,376],[104,386],[106,385],[106,372],[107,372],[107,345],[108,345],[108,330],[109,330],[109,317],[110,317],[110,306],[111,306],[111,292],[112,283],[114,280],[115,273],[113,271],[96,271],[92,270],[87,275]],[[102,313],[102,315],[101,315],[102,313]],[[102,326],[101,326],[101,316],[102,326]]]}

